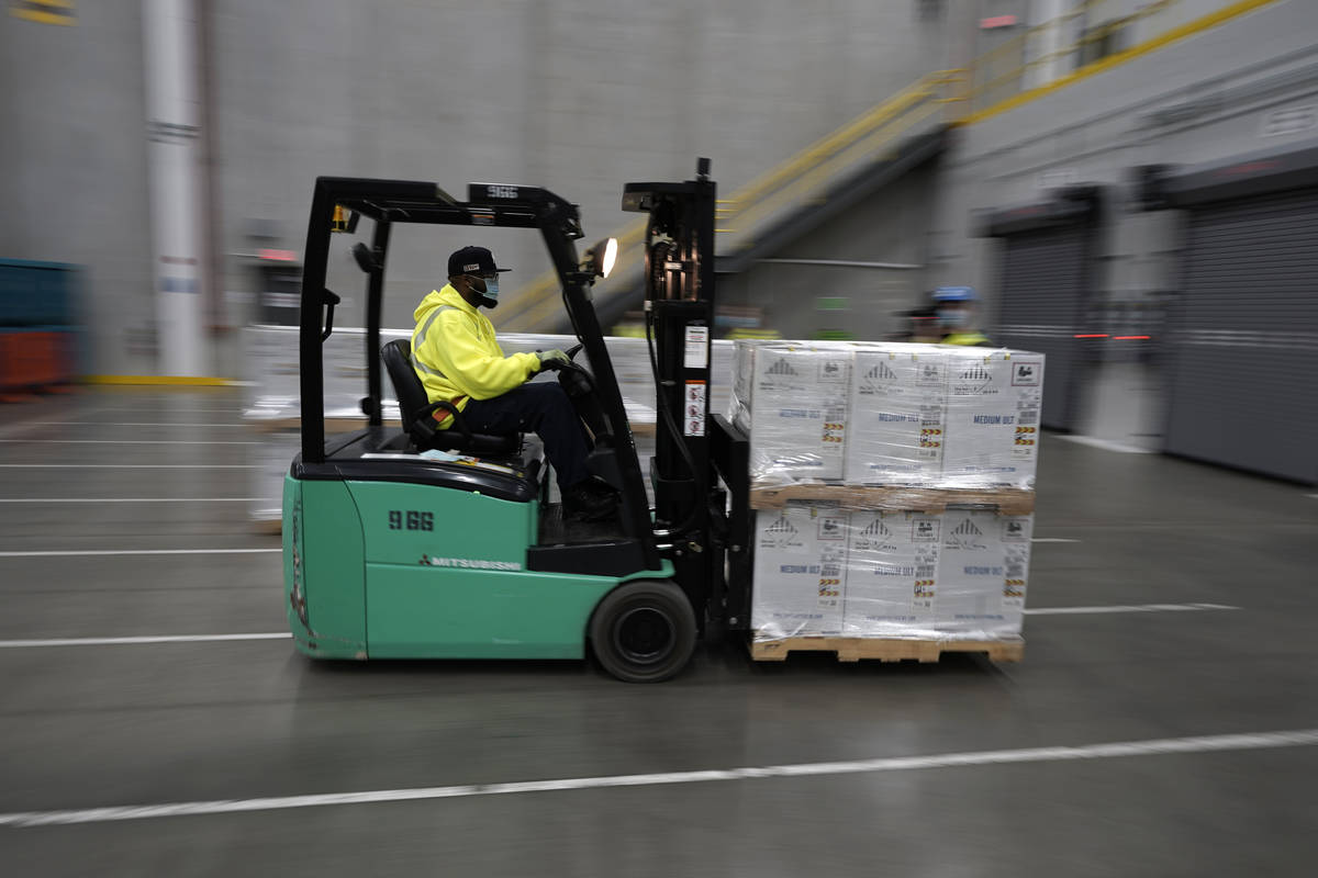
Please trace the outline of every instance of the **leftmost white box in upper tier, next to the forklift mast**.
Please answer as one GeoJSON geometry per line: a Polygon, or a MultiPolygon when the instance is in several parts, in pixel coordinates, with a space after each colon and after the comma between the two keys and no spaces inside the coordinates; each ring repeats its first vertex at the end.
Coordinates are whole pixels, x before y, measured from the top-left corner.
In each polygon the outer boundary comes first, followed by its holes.
{"type": "Polygon", "coordinates": [[[853,351],[776,344],[746,351],[750,391],[738,401],[749,411],[737,420],[750,428],[751,478],[841,480],[853,351]]]}

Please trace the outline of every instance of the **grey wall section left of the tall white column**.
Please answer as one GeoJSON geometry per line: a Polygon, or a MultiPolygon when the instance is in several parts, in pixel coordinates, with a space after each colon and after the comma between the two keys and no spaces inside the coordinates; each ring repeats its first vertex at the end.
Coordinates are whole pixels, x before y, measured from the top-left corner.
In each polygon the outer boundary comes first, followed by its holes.
{"type": "Polygon", "coordinates": [[[0,12],[0,254],[84,265],[96,373],[156,371],[138,0],[0,12]]]}

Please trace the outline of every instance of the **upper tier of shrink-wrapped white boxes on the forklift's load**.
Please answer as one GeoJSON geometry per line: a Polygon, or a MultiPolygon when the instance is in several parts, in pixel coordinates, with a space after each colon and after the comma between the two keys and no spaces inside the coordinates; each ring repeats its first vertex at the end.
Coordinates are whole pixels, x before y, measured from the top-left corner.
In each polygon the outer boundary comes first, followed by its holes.
{"type": "Polygon", "coordinates": [[[1035,486],[1043,354],[738,341],[733,366],[757,484],[1035,486]]]}

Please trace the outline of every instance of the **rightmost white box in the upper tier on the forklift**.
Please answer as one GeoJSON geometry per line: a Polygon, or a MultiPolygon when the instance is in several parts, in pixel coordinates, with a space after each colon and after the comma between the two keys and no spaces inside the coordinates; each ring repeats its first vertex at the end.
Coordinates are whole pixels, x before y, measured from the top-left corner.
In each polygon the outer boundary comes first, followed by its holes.
{"type": "Polygon", "coordinates": [[[941,484],[1035,487],[1044,355],[948,350],[941,484]]]}

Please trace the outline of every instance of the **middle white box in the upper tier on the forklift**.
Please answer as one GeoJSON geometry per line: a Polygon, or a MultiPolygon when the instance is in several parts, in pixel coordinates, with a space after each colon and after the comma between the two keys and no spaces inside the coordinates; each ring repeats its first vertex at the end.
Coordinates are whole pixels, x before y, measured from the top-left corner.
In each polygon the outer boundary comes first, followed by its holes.
{"type": "Polygon", "coordinates": [[[858,349],[847,412],[847,484],[928,487],[942,471],[948,355],[936,348],[858,349]]]}

